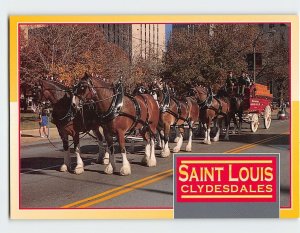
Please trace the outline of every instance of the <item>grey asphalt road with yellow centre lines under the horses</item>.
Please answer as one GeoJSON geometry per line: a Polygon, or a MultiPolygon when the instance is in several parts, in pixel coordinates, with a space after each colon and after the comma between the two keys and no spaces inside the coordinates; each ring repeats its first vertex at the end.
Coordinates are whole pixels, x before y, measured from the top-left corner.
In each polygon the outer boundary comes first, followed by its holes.
{"type": "MultiPolygon", "coordinates": [[[[262,125],[262,124],[261,124],[262,125]]],[[[193,141],[193,152],[211,153],[280,153],[280,203],[290,205],[290,136],[289,121],[273,120],[269,130],[260,126],[251,133],[244,124],[240,135],[230,135],[230,141],[205,145],[201,138],[193,141]]],[[[62,143],[47,140],[21,145],[20,208],[173,208],[173,159],[161,158],[156,151],[157,166],[141,165],[143,147],[134,144],[129,154],[132,174],[104,174],[104,165],[96,164],[98,146],[94,139],[81,141],[85,172],[76,175],[60,172],[63,163],[62,143]]],[[[171,143],[171,148],[174,147],[171,143]]],[[[186,141],[182,149],[185,148],[186,141]]],[[[129,148],[130,150],[130,148],[129,148]]],[[[182,151],[184,152],[184,151],[182,151]]],[[[75,162],[75,158],[74,162],[75,162]]],[[[121,155],[116,155],[121,167],[121,155]]]]}

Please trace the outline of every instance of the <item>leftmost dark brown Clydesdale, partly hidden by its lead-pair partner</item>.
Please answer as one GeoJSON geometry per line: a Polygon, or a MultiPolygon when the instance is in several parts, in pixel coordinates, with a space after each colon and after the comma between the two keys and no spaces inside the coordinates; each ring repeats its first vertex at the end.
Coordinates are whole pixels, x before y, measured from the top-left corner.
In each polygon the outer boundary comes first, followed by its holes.
{"type": "Polygon", "coordinates": [[[84,108],[81,113],[76,113],[72,106],[72,92],[61,83],[51,80],[39,80],[37,85],[37,99],[39,102],[49,100],[53,107],[52,121],[56,125],[59,135],[63,141],[64,163],[60,167],[60,171],[71,170],[71,157],[69,152],[68,135],[73,138],[74,151],[76,154],[77,164],[74,172],[81,174],[84,172],[84,164],[80,156],[79,134],[93,130],[98,139],[99,156],[97,161],[100,163],[108,163],[108,152],[103,156],[101,149],[102,135],[99,132],[99,124],[96,122],[95,114],[88,108],[84,108]]]}

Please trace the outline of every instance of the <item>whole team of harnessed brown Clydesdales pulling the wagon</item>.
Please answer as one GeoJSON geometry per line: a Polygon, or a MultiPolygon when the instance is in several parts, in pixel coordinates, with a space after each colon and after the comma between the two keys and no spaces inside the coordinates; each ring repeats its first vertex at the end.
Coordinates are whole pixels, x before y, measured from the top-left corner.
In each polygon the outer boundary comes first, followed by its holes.
{"type": "Polygon", "coordinates": [[[52,119],[57,126],[65,150],[61,171],[71,171],[68,136],[73,138],[76,154],[74,172],[81,174],[84,164],[80,156],[80,134],[93,130],[99,144],[98,161],[105,164],[105,173],[116,172],[114,138],[122,155],[121,175],[130,175],[131,167],[125,148],[126,135],[139,131],[146,142],[142,163],[156,166],[155,140],[161,147],[161,156],[170,156],[169,138],[171,126],[179,129],[173,152],[179,152],[183,144],[184,126],[188,126],[188,143],[185,151],[192,151],[193,127],[196,122],[205,130],[204,143],[211,144],[210,128],[217,126],[212,139],[219,140],[222,120],[227,127],[235,120],[236,102],[226,95],[214,96],[210,88],[194,87],[186,97],[176,98],[166,83],[155,81],[150,90],[139,90],[135,95],[125,94],[122,80],[112,85],[100,78],[85,74],[72,89],[50,80],[39,80],[38,101],[48,100],[53,107],[52,119]],[[103,129],[101,134],[99,128],[103,129]],[[106,148],[103,153],[103,135],[106,148]]]}

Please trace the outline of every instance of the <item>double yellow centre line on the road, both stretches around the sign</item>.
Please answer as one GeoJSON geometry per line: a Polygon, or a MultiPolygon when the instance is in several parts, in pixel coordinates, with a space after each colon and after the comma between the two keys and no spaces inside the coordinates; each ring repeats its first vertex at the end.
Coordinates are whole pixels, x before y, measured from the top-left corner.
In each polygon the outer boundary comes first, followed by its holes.
{"type": "MultiPolygon", "coordinates": [[[[262,139],[262,140],[259,140],[257,142],[253,142],[253,143],[250,143],[250,144],[240,146],[238,148],[234,148],[234,149],[225,151],[223,153],[238,153],[240,151],[247,150],[247,149],[250,149],[252,147],[255,147],[255,146],[257,146],[261,143],[272,141],[272,140],[274,140],[276,138],[279,138],[279,137],[283,137],[285,134],[287,134],[287,133],[283,133],[283,134],[280,134],[280,135],[275,135],[273,137],[262,139]]],[[[61,208],[86,208],[86,207],[89,207],[91,205],[107,201],[107,200],[112,199],[114,197],[118,197],[118,196],[120,196],[122,194],[125,194],[125,193],[128,193],[130,191],[134,191],[134,190],[136,190],[140,187],[144,187],[144,186],[146,186],[148,184],[151,184],[151,183],[154,183],[156,181],[165,179],[165,178],[167,178],[171,175],[173,175],[173,169],[169,169],[169,170],[166,170],[164,172],[160,172],[160,173],[157,173],[155,175],[148,176],[148,177],[136,180],[136,181],[131,182],[129,184],[125,184],[125,185],[122,185],[120,187],[107,190],[107,191],[99,193],[97,195],[94,195],[94,196],[91,196],[91,197],[88,197],[88,198],[70,203],[68,205],[64,205],[61,208]],[[124,189],[124,190],[122,190],[122,189],[124,189]]]]}

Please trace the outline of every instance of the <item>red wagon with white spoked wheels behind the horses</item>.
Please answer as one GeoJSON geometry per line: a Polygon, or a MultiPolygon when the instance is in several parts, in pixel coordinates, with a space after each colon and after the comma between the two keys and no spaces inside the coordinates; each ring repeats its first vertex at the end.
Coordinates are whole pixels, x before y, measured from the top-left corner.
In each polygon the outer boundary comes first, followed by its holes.
{"type": "Polygon", "coordinates": [[[269,129],[272,122],[271,103],[273,95],[268,86],[253,84],[245,89],[243,104],[243,122],[250,124],[252,132],[256,132],[259,126],[259,118],[263,118],[265,129],[269,129]]]}

